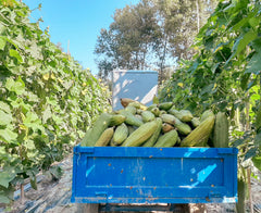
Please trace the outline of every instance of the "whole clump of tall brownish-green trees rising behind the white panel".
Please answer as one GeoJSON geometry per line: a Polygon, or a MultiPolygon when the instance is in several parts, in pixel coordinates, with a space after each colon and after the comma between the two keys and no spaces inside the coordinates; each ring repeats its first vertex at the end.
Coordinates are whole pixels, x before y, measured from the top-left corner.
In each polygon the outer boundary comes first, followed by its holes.
{"type": "Polygon", "coordinates": [[[100,76],[113,68],[157,70],[161,82],[166,67],[192,55],[195,50],[188,49],[197,33],[196,17],[199,24],[206,22],[207,8],[214,2],[198,0],[197,10],[192,0],[141,0],[116,10],[113,23],[97,40],[100,76]]]}

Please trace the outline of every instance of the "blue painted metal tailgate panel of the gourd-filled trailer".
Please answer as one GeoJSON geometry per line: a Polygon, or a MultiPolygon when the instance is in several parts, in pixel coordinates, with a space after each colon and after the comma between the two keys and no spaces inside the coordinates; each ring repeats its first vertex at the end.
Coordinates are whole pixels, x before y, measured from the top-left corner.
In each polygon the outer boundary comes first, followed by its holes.
{"type": "Polygon", "coordinates": [[[75,147],[72,202],[237,201],[236,148],[75,147]]]}

